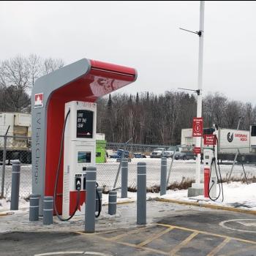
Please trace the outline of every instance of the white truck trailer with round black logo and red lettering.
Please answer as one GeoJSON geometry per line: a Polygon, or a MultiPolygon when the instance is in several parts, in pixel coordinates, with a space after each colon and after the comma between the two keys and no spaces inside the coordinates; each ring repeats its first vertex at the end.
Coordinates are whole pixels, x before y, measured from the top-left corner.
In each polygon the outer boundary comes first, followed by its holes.
{"type": "MultiPolygon", "coordinates": [[[[214,128],[203,129],[203,134],[212,134],[214,128]]],[[[256,162],[256,125],[251,125],[250,130],[219,128],[218,154],[220,160],[233,160],[239,150],[241,155],[238,161],[256,162]]],[[[192,129],[181,129],[181,145],[195,146],[196,138],[192,137],[192,129]]],[[[203,154],[203,138],[201,148],[203,154]]]]}

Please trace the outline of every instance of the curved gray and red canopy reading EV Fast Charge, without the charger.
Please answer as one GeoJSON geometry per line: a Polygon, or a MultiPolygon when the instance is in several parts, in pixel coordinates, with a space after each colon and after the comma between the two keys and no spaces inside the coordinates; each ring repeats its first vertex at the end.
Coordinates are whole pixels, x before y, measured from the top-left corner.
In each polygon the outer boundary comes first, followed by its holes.
{"type": "MultiPolygon", "coordinates": [[[[81,59],[36,81],[31,94],[33,194],[41,198],[53,195],[65,103],[95,102],[98,97],[127,86],[136,78],[133,68],[81,59]]],[[[62,175],[60,178],[57,204],[61,212],[62,175]]]]}

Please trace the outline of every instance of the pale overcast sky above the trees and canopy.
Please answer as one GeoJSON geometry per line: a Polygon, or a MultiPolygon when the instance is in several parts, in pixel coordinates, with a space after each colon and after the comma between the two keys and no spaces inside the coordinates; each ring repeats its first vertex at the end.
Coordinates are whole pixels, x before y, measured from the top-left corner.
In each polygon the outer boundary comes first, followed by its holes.
{"type": "MultiPolygon", "coordinates": [[[[1,1],[0,59],[36,53],[135,67],[120,91],[197,89],[200,1],[1,1]]],[[[206,1],[203,94],[256,104],[256,2],[206,1]]]]}

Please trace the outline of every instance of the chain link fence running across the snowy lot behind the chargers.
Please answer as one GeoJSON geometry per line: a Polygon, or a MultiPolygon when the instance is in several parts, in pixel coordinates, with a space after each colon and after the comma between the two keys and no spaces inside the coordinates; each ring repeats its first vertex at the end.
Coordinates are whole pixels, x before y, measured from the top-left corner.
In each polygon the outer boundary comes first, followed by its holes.
{"type": "MultiPolygon", "coordinates": [[[[11,179],[12,179],[12,161],[20,159],[20,197],[28,197],[31,194],[31,138],[21,136],[0,136],[0,184],[4,197],[10,197],[11,179]],[[5,143],[4,143],[4,140],[5,143]],[[5,145],[4,145],[5,144],[5,145]]],[[[118,168],[120,165],[121,154],[129,159],[128,187],[129,189],[137,188],[137,164],[138,162],[146,162],[147,165],[147,187],[148,189],[159,187],[160,170],[161,170],[161,154],[152,154],[155,148],[165,148],[168,146],[161,145],[140,145],[132,143],[103,143],[102,145],[102,161],[97,163],[97,182],[100,187],[105,190],[113,189],[118,168]]],[[[99,147],[99,145],[97,146],[99,147]]],[[[99,153],[97,153],[99,154],[99,153]]],[[[233,156],[234,157],[234,156],[233,156]]],[[[242,180],[244,178],[244,170],[248,179],[256,176],[255,163],[241,162],[233,167],[231,180],[242,180]]],[[[232,157],[231,157],[232,159],[232,157]]],[[[195,155],[192,151],[184,151],[175,156],[167,157],[167,172],[170,171],[170,179],[168,185],[176,184],[177,188],[182,188],[184,183],[191,183],[195,180],[195,155]],[[173,163],[172,163],[173,161],[173,163]],[[171,166],[171,168],[170,168],[171,166]]],[[[219,165],[222,178],[227,180],[230,175],[232,161],[222,159],[219,165]]],[[[203,162],[201,164],[201,180],[203,181],[203,162]]],[[[256,180],[256,178],[255,178],[256,180]]],[[[116,187],[121,187],[121,171],[119,173],[116,187]]],[[[154,190],[153,190],[154,191],[154,190]]],[[[1,194],[2,195],[2,194],[1,194]]]]}

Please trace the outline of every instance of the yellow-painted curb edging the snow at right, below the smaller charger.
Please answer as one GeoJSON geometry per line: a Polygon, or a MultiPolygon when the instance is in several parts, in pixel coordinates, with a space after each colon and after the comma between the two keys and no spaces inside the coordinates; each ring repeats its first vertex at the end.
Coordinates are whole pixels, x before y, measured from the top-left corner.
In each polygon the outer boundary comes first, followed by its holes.
{"type": "Polygon", "coordinates": [[[155,200],[159,201],[159,202],[178,203],[178,204],[183,204],[183,205],[187,205],[187,206],[199,206],[199,207],[211,208],[211,209],[215,209],[215,210],[235,211],[235,212],[240,212],[242,214],[256,215],[256,211],[250,211],[250,210],[245,210],[245,209],[241,209],[241,208],[233,208],[233,207],[229,207],[229,206],[217,206],[217,205],[211,205],[211,204],[207,204],[207,203],[186,202],[186,201],[164,199],[164,198],[155,198],[155,200]]]}

